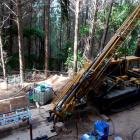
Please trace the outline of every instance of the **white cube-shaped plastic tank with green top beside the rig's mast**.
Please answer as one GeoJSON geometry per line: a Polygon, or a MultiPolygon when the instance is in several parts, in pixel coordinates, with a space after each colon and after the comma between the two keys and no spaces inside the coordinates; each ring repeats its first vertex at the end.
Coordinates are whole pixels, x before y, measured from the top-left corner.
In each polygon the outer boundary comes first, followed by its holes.
{"type": "Polygon", "coordinates": [[[48,84],[40,84],[33,91],[33,100],[45,105],[53,99],[53,88],[48,84]]]}

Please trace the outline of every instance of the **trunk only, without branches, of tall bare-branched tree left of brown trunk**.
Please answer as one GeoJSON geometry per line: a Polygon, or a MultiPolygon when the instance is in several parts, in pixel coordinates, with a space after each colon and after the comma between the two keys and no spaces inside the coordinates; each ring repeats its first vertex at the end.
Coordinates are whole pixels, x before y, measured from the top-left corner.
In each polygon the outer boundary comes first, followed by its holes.
{"type": "Polygon", "coordinates": [[[18,45],[19,45],[19,69],[20,69],[20,82],[24,82],[24,50],[23,50],[23,27],[21,17],[21,0],[16,0],[17,3],[17,27],[18,27],[18,45]]]}

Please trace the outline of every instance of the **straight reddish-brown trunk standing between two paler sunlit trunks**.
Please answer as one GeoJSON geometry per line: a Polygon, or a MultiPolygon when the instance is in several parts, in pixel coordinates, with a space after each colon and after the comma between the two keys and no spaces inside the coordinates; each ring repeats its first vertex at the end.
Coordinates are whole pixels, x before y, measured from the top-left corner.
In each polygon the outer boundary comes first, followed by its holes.
{"type": "Polygon", "coordinates": [[[50,19],[50,0],[45,4],[45,76],[48,77],[49,63],[49,19],[50,19]]]}

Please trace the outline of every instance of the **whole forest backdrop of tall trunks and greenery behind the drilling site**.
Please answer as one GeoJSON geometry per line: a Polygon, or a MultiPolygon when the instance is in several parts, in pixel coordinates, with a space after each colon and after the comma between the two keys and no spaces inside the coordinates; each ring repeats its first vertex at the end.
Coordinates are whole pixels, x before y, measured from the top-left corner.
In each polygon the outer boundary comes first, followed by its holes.
{"type": "MultiPolygon", "coordinates": [[[[0,74],[74,72],[92,61],[139,0],[1,0],[0,74]]],[[[140,23],[117,51],[134,55],[140,23]]]]}

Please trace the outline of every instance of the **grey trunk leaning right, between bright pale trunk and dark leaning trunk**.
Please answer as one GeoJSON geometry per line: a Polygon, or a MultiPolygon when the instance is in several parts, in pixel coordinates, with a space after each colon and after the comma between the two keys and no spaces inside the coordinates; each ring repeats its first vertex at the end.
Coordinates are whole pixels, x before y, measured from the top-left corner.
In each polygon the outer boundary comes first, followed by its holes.
{"type": "Polygon", "coordinates": [[[91,45],[89,49],[89,59],[93,59],[93,52],[94,52],[94,44],[95,44],[95,32],[96,32],[96,24],[97,24],[97,14],[98,14],[98,2],[96,0],[96,8],[94,12],[94,19],[93,19],[93,26],[92,26],[92,33],[91,33],[91,45]]]}

